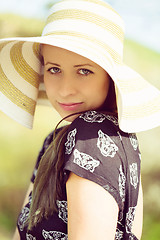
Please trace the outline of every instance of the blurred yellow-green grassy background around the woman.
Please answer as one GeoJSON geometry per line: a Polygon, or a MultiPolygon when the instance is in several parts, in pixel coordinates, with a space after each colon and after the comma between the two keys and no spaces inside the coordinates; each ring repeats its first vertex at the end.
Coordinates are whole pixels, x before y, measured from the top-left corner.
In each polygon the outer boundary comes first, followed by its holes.
{"type": "MultiPolygon", "coordinates": [[[[0,38],[37,36],[44,22],[0,14],[0,38]]],[[[160,89],[160,54],[125,41],[125,62],[160,89]]],[[[28,130],[0,112],[0,239],[12,238],[32,170],[43,139],[60,120],[49,107],[37,107],[34,128],[28,130]]],[[[138,134],[142,153],[144,227],[142,240],[160,239],[160,127],[138,134]]]]}

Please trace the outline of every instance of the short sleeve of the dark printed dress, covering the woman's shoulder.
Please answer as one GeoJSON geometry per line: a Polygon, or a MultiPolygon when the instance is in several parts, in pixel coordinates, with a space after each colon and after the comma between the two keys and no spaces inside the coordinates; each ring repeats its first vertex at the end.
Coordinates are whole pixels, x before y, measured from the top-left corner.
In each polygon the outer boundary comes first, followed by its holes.
{"type": "Polygon", "coordinates": [[[67,177],[71,171],[102,186],[122,210],[120,175],[125,174],[126,156],[116,125],[116,118],[93,111],[74,120],[65,143],[64,170],[67,177]]]}

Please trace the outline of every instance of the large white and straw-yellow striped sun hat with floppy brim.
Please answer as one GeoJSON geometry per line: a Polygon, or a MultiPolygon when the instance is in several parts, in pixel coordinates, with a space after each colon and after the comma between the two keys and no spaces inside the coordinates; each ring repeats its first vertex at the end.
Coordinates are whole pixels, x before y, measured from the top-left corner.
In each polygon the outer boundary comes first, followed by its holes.
{"type": "Polygon", "coordinates": [[[89,58],[115,83],[118,121],[125,132],[160,125],[160,91],[123,63],[124,24],[101,0],[56,0],[42,36],[0,40],[0,109],[31,128],[37,101],[47,104],[40,44],[89,58]]]}

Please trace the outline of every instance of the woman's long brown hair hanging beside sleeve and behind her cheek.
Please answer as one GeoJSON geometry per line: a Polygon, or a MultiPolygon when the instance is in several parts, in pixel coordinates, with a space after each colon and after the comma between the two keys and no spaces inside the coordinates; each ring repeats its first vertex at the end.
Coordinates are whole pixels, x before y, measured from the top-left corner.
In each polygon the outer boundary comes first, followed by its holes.
{"type": "MultiPolygon", "coordinates": [[[[112,80],[110,81],[106,101],[99,111],[108,112],[113,115],[117,114],[115,87],[112,80]]],[[[34,182],[31,209],[27,222],[29,230],[36,226],[43,217],[48,218],[54,211],[57,211],[56,201],[61,199],[65,184],[63,172],[64,143],[68,128],[69,125],[63,127],[57,135],[54,134],[53,141],[40,161],[34,182]]]]}

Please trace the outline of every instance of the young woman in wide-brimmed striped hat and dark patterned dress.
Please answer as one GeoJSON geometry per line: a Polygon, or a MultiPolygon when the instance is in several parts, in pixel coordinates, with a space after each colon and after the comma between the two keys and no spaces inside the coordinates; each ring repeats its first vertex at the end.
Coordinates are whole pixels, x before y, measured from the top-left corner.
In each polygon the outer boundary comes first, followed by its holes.
{"type": "Polygon", "coordinates": [[[44,141],[14,239],[141,238],[133,132],[159,125],[160,92],[124,65],[123,31],[101,0],[58,0],[41,37],[0,40],[1,110],[31,127],[38,96],[69,122],[44,141]]]}

